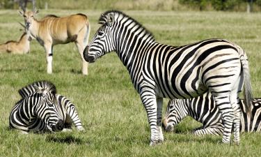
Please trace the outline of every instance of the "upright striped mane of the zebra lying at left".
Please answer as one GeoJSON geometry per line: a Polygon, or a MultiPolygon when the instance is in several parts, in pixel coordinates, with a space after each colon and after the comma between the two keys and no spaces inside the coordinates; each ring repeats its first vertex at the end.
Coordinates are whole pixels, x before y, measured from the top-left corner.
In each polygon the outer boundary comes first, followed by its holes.
{"type": "Polygon", "coordinates": [[[38,86],[38,87],[42,87],[44,89],[47,89],[48,91],[50,91],[52,94],[56,94],[56,87],[54,86],[54,84],[52,82],[49,81],[38,81],[38,82],[33,82],[32,84],[28,84],[26,87],[23,87],[22,89],[18,90],[18,93],[20,94],[20,96],[22,96],[22,98],[26,98],[28,96],[31,96],[33,94],[35,94],[35,88],[33,86],[38,86]]]}

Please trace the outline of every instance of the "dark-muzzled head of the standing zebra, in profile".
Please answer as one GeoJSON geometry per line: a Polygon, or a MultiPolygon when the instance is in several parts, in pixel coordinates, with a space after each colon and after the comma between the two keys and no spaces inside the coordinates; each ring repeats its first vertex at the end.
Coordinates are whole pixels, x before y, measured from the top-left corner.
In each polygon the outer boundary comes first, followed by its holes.
{"type": "Polygon", "coordinates": [[[115,50],[112,31],[115,25],[115,13],[104,13],[100,17],[102,26],[96,31],[93,40],[84,49],[84,59],[89,63],[115,50]]]}

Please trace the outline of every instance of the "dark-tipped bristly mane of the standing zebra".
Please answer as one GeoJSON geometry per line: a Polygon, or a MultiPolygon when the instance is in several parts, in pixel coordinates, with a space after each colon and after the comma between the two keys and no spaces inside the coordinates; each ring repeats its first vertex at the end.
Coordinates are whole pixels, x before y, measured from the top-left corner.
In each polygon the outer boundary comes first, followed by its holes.
{"type": "MultiPolygon", "coordinates": [[[[145,27],[143,27],[142,24],[140,24],[139,22],[137,22],[136,20],[134,20],[132,17],[130,17],[129,15],[126,15],[125,13],[122,13],[121,11],[118,11],[118,10],[108,10],[106,11],[105,13],[102,13],[102,15],[100,16],[100,19],[99,19],[99,24],[105,24],[107,22],[107,16],[109,15],[114,15],[115,17],[118,17],[119,15],[122,15],[123,17],[127,17],[128,20],[132,20],[132,22],[136,23],[136,25],[139,25],[142,29],[143,29],[143,32],[148,34],[152,40],[155,40],[153,34],[148,31],[148,29],[146,29],[145,27]]],[[[117,22],[117,18],[115,18],[115,22],[117,22]]]]}

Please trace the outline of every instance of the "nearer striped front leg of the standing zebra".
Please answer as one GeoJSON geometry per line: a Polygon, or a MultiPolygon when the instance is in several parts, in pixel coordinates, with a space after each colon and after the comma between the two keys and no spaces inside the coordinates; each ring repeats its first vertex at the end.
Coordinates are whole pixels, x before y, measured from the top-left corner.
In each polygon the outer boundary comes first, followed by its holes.
{"type": "MultiPolygon", "coordinates": [[[[141,90],[141,101],[145,107],[148,115],[148,122],[150,124],[150,145],[159,144],[163,141],[161,127],[157,126],[157,100],[152,89],[141,90]],[[159,140],[159,133],[161,133],[159,140]]],[[[161,124],[161,123],[160,123],[161,124]]]]}

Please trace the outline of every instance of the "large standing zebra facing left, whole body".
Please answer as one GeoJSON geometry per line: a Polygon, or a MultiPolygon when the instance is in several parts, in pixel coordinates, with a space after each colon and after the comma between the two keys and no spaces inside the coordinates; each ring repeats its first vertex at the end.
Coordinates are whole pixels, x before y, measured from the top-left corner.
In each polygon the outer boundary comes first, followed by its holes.
{"type": "Polygon", "coordinates": [[[234,140],[239,144],[238,92],[243,82],[247,111],[251,105],[248,61],[241,47],[222,39],[180,47],[160,44],[139,22],[115,10],[103,13],[100,24],[84,50],[84,59],[92,63],[116,51],[148,114],[150,145],[164,141],[163,98],[193,98],[206,91],[213,94],[223,117],[222,142],[230,142],[234,124],[234,140]]]}

